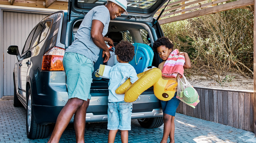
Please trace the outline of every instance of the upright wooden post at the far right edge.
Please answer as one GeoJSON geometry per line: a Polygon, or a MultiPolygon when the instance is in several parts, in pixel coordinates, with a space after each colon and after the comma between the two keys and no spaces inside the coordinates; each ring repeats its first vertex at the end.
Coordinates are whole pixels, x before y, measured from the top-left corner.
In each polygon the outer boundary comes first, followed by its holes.
{"type": "MultiPolygon", "coordinates": [[[[254,28],[253,28],[253,129],[256,134],[256,0],[254,0],[254,28]]],[[[252,102],[252,101],[251,101],[252,102]]]]}

